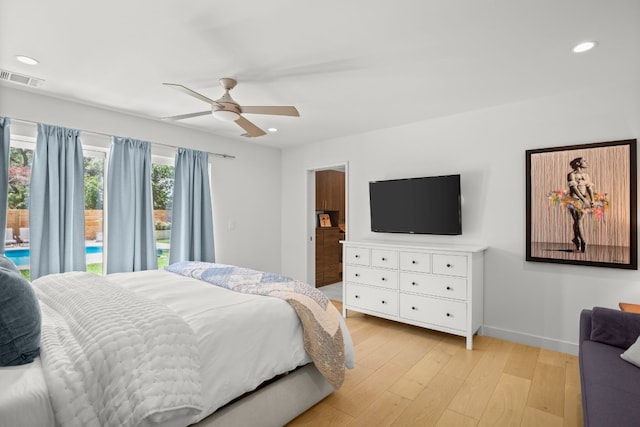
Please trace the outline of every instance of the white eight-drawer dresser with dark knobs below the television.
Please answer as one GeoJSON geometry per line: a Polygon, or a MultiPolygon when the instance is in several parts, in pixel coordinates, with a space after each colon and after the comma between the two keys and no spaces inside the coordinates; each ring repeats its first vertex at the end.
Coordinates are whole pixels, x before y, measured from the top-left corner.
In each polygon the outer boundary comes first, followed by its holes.
{"type": "Polygon", "coordinates": [[[347,310],[467,338],[483,322],[484,251],[471,245],[342,241],[347,310]]]}

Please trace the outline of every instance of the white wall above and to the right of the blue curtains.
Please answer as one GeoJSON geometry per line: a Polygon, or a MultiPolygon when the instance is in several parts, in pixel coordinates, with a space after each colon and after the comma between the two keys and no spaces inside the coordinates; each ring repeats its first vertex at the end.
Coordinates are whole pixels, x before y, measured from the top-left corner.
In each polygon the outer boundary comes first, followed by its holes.
{"type": "MultiPolygon", "coordinates": [[[[0,116],[236,156],[209,157],[216,261],[280,271],[280,151],[4,85],[0,116]]],[[[24,128],[14,121],[16,130],[24,128]]],[[[83,139],[100,138],[85,133],[83,139]]],[[[171,150],[155,145],[152,152],[171,150]]]]}

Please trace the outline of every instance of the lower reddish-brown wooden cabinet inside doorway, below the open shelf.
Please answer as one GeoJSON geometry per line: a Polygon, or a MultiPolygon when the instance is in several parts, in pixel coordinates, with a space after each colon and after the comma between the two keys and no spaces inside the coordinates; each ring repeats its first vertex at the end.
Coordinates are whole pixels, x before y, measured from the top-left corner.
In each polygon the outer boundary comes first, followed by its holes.
{"type": "Polygon", "coordinates": [[[316,286],[329,285],[342,279],[341,249],[338,227],[316,228],[316,286]]]}

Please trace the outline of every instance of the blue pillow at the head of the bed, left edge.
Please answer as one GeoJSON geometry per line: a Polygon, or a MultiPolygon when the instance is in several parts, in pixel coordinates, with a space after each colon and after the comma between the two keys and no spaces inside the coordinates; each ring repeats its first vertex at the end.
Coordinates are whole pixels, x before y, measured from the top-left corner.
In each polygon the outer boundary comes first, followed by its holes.
{"type": "Polygon", "coordinates": [[[31,284],[0,255],[0,366],[33,362],[40,354],[40,305],[31,284]]]}

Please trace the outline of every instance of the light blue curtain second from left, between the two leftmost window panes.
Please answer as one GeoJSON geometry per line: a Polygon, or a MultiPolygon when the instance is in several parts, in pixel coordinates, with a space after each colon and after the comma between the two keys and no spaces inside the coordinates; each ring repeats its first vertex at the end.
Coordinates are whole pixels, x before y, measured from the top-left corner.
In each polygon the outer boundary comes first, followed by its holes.
{"type": "Polygon", "coordinates": [[[38,124],[29,192],[31,279],[85,271],[80,131],[38,124]]]}

